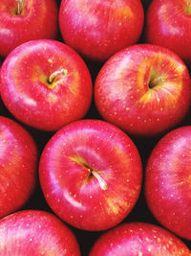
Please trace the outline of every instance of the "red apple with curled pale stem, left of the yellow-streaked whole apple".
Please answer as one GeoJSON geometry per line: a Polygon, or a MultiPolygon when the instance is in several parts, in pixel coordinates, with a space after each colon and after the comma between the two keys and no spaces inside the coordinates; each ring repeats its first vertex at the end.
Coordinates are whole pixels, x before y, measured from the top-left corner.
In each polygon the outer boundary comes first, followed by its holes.
{"type": "Polygon", "coordinates": [[[57,130],[82,118],[92,101],[90,72],[74,50],[51,39],[16,47],[0,71],[4,104],[24,124],[57,130]]]}

